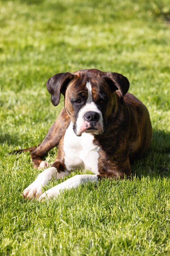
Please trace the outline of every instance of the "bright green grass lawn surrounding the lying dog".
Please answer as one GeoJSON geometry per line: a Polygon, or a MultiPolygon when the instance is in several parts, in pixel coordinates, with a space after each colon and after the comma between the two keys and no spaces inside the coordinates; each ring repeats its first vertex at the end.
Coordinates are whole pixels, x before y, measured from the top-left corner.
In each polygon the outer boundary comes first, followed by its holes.
{"type": "Polygon", "coordinates": [[[4,0],[0,35],[0,255],[170,255],[169,1],[4,0]],[[81,68],[128,77],[150,112],[150,150],[131,181],[24,200],[39,171],[7,153],[39,144],[59,114],[46,80],[81,68]]]}

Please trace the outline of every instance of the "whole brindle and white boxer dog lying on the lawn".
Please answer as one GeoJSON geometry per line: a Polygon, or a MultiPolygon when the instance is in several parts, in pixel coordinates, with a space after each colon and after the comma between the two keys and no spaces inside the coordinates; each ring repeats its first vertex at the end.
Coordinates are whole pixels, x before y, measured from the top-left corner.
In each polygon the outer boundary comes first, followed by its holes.
{"type": "Polygon", "coordinates": [[[146,106],[127,93],[128,79],[97,69],[78,70],[55,74],[46,86],[54,106],[64,95],[64,108],[37,148],[15,152],[30,151],[36,168],[48,167],[42,158],[51,148],[58,146],[58,152],[52,166],[23,191],[24,198],[43,200],[85,182],[131,175],[130,163],[150,146],[152,127],[146,106]],[[52,177],[77,169],[94,174],[75,175],[42,193],[52,177]]]}

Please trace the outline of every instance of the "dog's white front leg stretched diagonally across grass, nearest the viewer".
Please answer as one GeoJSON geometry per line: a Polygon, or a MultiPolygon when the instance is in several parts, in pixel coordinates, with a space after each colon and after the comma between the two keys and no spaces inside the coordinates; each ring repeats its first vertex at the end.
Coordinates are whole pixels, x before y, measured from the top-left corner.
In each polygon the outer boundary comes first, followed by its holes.
{"type": "Polygon", "coordinates": [[[80,174],[75,175],[71,177],[68,180],[65,180],[65,182],[62,182],[61,184],[54,186],[52,189],[47,190],[44,192],[40,198],[39,201],[44,200],[45,198],[53,198],[57,197],[57,195],[60,193],[60,191],[63,191],[64,189],[71,189],[76,188],[80,184],[85,184],[86,182],[96,182],[98,183],[98,175],[96,174],[80,174]]]}

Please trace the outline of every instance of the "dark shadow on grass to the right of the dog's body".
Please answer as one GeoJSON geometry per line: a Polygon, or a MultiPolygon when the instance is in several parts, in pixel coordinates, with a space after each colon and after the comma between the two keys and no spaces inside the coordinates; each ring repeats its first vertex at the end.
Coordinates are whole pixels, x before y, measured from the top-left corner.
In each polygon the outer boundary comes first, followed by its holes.
{"type": "Polygon", "coordinates": [[[153,130],[153,140],[146,156],[134,162],[132,173],[136,177],[170,178],[170,132],[153,130]]]}

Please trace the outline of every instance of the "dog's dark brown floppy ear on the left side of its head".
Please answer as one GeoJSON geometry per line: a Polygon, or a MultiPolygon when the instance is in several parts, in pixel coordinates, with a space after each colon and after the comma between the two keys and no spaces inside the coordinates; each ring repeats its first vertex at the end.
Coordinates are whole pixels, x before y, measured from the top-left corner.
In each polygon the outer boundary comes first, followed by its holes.
{"type": "Polygon", "coordinates": [[[59,104],[61,93],[65,94],[66,87],[73,77],[74,74],[65,72],[56,74],[48,79],[46,87],[51,94],[51,101],[54,106],[59,104]]]}

